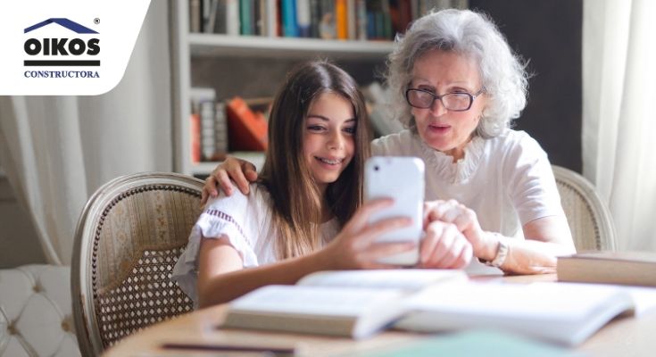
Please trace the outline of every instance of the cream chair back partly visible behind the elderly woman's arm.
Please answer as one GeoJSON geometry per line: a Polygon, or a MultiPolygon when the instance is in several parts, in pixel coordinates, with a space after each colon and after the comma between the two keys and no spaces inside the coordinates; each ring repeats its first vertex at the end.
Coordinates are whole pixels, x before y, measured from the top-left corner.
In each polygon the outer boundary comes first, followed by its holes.
{"type": "Polygon", "coordinates": [[[577,251],[614,250],[615,226],[593,184],[575,171],[552,170],[577,251]]]}

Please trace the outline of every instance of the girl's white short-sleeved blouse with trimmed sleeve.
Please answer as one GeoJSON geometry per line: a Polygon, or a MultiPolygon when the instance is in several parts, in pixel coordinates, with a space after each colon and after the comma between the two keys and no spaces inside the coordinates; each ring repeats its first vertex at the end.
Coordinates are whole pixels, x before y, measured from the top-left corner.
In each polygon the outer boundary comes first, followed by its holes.
{"type": "MultiPolygon", "coordinates": [[[[335,237],[338,230],[336,219],[322,224],[320,232],[324,244],[335,237]]],[[[212,198],[196,220],[187,248],[173,268],[171,278],[197,306],[198,254],[203,238],[227,239],[241,256],[244,268],[251,268],[278,260],[276,236],[271,226],[270,195],[265,188],[252,184],[249,195],[235,190],[230,196],[212,198]]]]}

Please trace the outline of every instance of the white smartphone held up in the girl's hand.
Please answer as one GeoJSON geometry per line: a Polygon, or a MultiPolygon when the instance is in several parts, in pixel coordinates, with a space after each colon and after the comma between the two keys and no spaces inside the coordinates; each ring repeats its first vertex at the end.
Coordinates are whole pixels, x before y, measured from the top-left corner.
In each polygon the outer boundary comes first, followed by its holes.
{"type": "Polygon", "coordinates": [[[389,197],[394,204],[375,212],[370,222],[393,217],[410,217],[411,226],[395,229],[377,238],[378,242],[415,242],[417,249],[394,254],[379,262],[414,265],[419,261],[424,203],[424,162],[417,157],[374,156],[365,163],[364,197],[369,201],[389,197]]]}

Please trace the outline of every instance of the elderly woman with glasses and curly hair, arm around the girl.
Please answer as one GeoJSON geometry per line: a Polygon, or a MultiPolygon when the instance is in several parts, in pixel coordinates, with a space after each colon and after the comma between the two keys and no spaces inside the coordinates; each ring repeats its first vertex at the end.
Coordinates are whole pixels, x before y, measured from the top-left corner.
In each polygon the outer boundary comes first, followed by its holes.
{"type": "MultiPolygon", "coordinates": [[[[575,248],[547,155],[510,129],[526,105],[527,73],[499,29],[477,12],[429,13],[396,38],[388,66],[407,129],[374,140],[373,153],[426,162],[426,198],[439,200],[427,212],[455,224],[480,261],[553,272],[556,256],[575,248]]],[[[207,192],[216,195],[218,181],[229,193],[228,174],[247,187],[255,175],[246,166],[225,162],[207,192]]]]}

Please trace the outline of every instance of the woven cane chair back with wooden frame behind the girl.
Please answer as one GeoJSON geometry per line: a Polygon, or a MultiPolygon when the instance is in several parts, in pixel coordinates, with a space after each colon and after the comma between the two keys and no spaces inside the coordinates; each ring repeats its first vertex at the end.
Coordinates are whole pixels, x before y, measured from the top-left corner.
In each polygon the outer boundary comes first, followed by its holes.
{"type": "Polygon", "coordinates": [[[192,310],[170,273],[200,214],[202,187],[199,179],[151,172],[113,179],[89,199],[71,274],[84,355],[192,310]]]}

